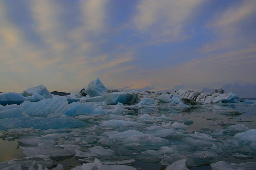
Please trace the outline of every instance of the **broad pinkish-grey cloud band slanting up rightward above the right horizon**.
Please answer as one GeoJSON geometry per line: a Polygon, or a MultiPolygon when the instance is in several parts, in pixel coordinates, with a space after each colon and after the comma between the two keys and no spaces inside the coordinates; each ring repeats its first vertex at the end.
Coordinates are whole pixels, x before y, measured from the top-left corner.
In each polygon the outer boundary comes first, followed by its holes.
{"type": "Polygon", "coordinates": [[[254,84],[255,56],[256,44],[250,44],[243,49],[212,54],[177,66],[156,69],[147,78],[160,82],[157,85],[153,84],[156,87],[172,88],[184,83],[186,88],[191,90],[201,90],[205,86],[221,87],[236,80],[254,84]]]}

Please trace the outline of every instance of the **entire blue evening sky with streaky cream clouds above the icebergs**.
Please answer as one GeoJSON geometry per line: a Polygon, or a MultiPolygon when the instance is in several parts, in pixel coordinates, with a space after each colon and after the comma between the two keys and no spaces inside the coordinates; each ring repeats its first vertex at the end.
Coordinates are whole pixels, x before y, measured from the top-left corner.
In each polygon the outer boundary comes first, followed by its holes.
{"type": "Polygon", "coordinates": [[[256,83],[256,0],[0,0],[0,91],[256,83]]]}

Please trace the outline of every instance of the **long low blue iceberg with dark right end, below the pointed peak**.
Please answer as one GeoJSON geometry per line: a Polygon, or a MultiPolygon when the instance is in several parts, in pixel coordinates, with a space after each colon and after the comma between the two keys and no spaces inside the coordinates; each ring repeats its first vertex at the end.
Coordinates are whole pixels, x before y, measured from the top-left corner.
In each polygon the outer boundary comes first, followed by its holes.
{"type": "Polygon", "coordinates": [[[126,92],[113,92],[108,93],[102,96],[95,96],[89,99],[86,99],[88,102],[105,102],[106,104],[135,104],[138,101],[137,94],[129,94],[126,92]]]}

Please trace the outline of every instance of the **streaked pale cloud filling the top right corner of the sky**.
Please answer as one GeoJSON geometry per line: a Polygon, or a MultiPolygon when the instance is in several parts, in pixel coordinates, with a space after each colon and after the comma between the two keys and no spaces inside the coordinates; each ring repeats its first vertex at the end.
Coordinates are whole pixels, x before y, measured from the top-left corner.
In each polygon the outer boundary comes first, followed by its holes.
{"type": "Polygon", "coordinates": [[[200,47],[203,53],[242,49],[256,42],[255,11],[256,1],[232,1],[216,13],[205,25],[214,35],[210,42],[200,47]]]}

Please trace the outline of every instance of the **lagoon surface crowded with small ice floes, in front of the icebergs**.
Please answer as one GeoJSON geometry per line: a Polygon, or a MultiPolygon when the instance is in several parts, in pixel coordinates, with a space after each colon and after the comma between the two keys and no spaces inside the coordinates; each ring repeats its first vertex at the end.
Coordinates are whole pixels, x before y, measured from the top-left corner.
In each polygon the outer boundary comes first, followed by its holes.
{"type": "Polygon", "coordinates": [[[255,141],[234,137],[256,129],[255,101],[189,107],[98,106],[98,114],[72,117],[84,121],[85,127],[2,131],[0,166],[5,167],[3,162],[17,158],[13,163],[28,169],[34,160],[31,157],[36,155],[46,158],[36,158],[35,169],[41,163],[49,169],[62,164],[69,170],[93,163],[95,158],[101,164],[129,165],[141,170],[165,169],[182,159],[186,159],[187,167],[200,170],[210,170],[210,165],[217,161],[256,162],[256,151],[251,145],[255,141]],[[113,112],[114,108],[119,110],[113,112]],[[238,124],[243,125],[232,128],[238,124]],[[25,156],[28,158],[24,159],[25,156]]]}

